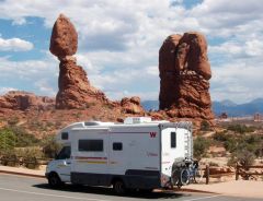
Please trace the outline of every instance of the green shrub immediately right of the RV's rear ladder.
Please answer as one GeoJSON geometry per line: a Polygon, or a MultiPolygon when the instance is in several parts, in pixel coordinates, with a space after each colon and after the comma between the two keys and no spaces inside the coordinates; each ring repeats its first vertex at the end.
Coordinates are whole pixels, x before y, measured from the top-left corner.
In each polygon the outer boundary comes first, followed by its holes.
{"type": "Polygon", "coordinates": [[[209,140],[207,140],[203,137],[197,137],[194,140],[194,157],[199,159],[203,156],[205,156],[205,154],[208,151],[209,145],[210,145],[209,140]]]}

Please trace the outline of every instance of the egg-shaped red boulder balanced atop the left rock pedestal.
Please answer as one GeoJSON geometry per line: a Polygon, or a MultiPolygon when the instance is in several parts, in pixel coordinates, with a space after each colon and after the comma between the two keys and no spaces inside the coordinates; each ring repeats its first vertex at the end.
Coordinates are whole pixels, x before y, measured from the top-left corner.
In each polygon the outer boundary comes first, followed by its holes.
{"type": "Polygon", "coordinates": [[[78,49],[78,34],[70,20],[60,14],[53,26],[49,50],[58,58],[72,56],[78,49]]]}

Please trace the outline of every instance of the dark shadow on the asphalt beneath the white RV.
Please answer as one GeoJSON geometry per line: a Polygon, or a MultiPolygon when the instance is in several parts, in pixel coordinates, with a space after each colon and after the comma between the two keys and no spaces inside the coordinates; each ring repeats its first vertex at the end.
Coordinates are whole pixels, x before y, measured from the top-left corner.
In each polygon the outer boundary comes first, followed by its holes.
{"type": "MultiPolygon", "coordinates": [[[[52,189],[47,184],[34,185],[35,188],[41,189],[52,189]]],[[[88,186],[75,186],[75,185],[65,185],[60,189],[52,189],[56,191],[64,192],[82,192],[82,193],[93,193],[93,194],[104,194],[104,196],[117,196],[114,193],[112,188],[105,187],[88,187],[88,186]]],[[[170,191],[153,191],[153,192],[141,192],[141,191],[130,191],[125,193],[122,197],[130,197],[138,199],[176,199],[181,197],[191,197],[188,193],[179,193],[172,190],[170,191]]]]}

